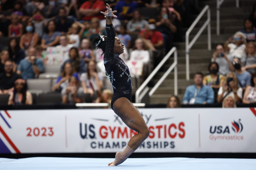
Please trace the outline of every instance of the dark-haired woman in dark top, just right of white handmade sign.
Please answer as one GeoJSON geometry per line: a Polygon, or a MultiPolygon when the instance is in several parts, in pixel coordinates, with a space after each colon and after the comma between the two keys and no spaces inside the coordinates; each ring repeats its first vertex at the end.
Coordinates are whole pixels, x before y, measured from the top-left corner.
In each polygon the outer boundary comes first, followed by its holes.
{"type": "Polygon", "coordinates": [[[69,57],[70,57],[70,58],[69,58],[68,60],[66,60],[66,61],[63,63],[63,65],[62,65],[62,67],[61,67],[61,72],[62,72],[62,70],[63,70],[64,64],[67,63],[67,62],[71,63],[72,66],[73,66],[74,69],[75,69],[75,72],[79,73],[80,75],[81,75],[82,73],[85,73],[85,72],[86,72],[85,62],[84,62],[84,60],[82,60],[82,59],[79,58],[79,54],[78,54],[77,48],[72,47],[72,48],[70,49],[70,51],[69,51],[69,57]]]}

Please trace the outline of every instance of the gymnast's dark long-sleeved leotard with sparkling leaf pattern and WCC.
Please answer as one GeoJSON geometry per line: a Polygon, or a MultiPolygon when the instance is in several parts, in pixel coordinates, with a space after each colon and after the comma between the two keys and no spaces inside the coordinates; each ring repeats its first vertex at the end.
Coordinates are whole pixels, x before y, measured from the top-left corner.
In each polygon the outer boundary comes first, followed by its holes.
{"type": "Polygon", "coordinates": [[[104,66],[106,75],[110,79],[113,87],[114,94],[111,100],[111,108],[113,109],[114,102],[120,97],[126,97],[132,102],[132,80],[129,68],[119,58],[119,55],[114,53],[116,32],[113,24],[106,24],[106,31],[107,42],[104,54],[104,66]]]}

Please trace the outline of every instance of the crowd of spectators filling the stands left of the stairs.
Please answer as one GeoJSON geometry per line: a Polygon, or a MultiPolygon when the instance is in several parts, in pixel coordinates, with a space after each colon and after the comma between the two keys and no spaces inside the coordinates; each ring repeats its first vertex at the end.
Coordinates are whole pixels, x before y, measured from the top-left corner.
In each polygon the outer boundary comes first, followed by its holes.
{"type": "Polygon", "coordinates": [[[8,104],[32,104],[26,80],[44,72],[50,48],[68,49],[52,86],[63,104],[111,101],[111,91],[103,89],[103,56],[91,43],[94,36],[106,35],[106,19],[100,13],[106,11],[106,3],[117,11],[113,26],[125,45],[120,57],[131,74],[142,79],[150,72],[154,57],[167,53],[172,42],[182,41],[180,28],[190,25],[193,7],[192,1],[182,0],[1,1],[0,37],[9,37],[9,44],[1,45],[0,94],[10,95],[8,104]],[[158,14],[144,19],[142,8],[158,14]]]}

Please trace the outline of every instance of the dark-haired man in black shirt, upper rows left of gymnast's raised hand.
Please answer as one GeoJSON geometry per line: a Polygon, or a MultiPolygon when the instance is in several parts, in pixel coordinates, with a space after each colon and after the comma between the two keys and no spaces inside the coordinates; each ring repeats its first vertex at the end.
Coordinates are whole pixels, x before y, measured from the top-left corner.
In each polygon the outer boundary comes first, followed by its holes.
{"type": "Polygon", "coordinates": [[[62,35],[64,35],[74,23],[74,20],[67,18],[65,8],[61,7],[54,22],[56,24],[56,31],[62,32],[62,35]]]}

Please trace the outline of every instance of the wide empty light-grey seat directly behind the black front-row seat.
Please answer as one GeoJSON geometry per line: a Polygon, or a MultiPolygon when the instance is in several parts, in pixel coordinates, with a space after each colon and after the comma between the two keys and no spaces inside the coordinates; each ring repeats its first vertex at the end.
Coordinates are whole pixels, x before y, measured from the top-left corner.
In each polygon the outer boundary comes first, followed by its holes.
{"type": "Polygon", "coordinates": [[[28,90],[42,90],[47,93],[51,90],[51,79],[28,79],[27,85],[28,90]]]}

